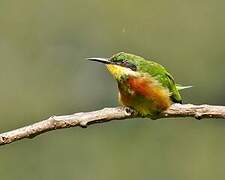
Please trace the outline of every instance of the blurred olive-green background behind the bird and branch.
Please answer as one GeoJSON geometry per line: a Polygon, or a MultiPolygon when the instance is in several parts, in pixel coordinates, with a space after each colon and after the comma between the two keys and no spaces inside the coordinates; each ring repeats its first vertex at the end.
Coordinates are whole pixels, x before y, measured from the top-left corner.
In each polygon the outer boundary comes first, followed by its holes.
{"type": "MultiPolygon", "coordinates": [[[[131,52],[193,85],[185,103],[225,105],[225,1],[0,0],[0,131],[117,106],[86,57],[131,52]]],[[[224,179],[225,122],[135,119],[0,147],[8,179],[224,179]]]]}

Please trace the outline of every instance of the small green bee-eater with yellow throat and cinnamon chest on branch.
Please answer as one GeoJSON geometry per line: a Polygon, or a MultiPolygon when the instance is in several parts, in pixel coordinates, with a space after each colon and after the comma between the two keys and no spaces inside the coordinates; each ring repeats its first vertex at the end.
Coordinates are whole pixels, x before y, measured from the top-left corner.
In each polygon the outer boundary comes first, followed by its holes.
{"type": "Polygon", "coordinates": [[[153,61],[124,52],[110,58],[88,58],[106,64],[118,83],[119,100],[143,116],[158,115],[172,102],[182,103],[179,90],[191,86],[175,84],[166,69],[153,61]]]}

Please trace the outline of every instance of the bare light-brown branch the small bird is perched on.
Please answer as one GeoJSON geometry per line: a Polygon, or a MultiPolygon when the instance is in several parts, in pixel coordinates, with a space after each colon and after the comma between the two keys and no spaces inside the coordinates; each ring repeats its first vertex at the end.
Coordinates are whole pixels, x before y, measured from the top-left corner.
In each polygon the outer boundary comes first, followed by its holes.
{"type": "MultiPolygon", "coordinates": [[[[23,138],[33,138],[39,134],[56,129],[74,126],[87,127],[88,125],[95,123],[138,117],[142,118],[134,110],[127,107],[104,108],[102,110],[92,112],[51,116],[46,120],[0,134],[0,145],[9,144],[23,138]]],[[[157,119],[170,117],[225,119],[225,106],[173,104],[168,110],[161,113],[157,119]]]]}

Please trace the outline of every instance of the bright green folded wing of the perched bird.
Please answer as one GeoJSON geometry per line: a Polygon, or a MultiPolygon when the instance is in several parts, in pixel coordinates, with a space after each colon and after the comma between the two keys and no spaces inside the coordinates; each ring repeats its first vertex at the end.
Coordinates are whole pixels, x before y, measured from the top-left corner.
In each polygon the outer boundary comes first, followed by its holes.
{"type": "Polygon", "coordinates": [[[173,76],[166,71],[160,64],[153,61],[143,61],[140,64],[140,72],[148,73],[154,77],[163,87],[168,88],[171,93],[171,100],[176,103],[182,103],[181,95],[176,87],[173,76]]]}

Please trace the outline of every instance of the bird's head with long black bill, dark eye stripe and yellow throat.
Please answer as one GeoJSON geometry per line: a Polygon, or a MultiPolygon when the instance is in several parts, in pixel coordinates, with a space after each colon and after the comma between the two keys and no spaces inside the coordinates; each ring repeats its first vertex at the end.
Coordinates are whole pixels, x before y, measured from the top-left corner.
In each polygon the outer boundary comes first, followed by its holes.
{"type": "Polygon", "coordinates": [[[106,64],[107,69],[117,80],[122,76],[138,73],[142,59],[142,57],[124,52],[117,53],[110,58],[88,58],[88,60],[106,64]]]}

